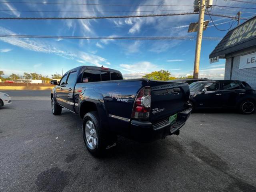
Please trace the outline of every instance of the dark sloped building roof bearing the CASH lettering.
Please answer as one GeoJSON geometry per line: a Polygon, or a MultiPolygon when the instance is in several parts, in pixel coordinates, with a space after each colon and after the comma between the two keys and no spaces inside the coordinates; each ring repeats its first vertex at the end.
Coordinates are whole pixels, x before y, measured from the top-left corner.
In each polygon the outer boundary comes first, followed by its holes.
{"type": "Polygon", "coordinates": [[[219,56],[256,46],[256,16],[228,31],[224,38],[214,48],[209,58],[219,56]]]}

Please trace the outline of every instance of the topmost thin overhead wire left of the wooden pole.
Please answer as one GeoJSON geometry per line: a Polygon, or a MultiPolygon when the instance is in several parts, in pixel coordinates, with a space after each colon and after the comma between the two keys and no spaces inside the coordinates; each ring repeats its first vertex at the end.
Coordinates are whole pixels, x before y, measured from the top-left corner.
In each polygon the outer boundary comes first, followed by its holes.
{"type": "Polygon", "coordinates": [[[88,4],[88,3],[52,3],[52,2],[7,2],[0,1],[0,3],[14,3],[14,4],[57,4],[57,5],[97,5],[97,6],[193,6],[193,5],[140,5],[140,4],[88,4]]]}

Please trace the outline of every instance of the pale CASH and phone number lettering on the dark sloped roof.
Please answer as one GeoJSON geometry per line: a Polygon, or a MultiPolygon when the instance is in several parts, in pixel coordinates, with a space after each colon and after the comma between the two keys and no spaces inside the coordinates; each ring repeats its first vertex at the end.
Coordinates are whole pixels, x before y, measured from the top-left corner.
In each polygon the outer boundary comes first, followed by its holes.
{"type": "Polygon", "coordinates": [[[226,46],[233,46],[237,43],[243,42],[248,38],[256,36],[256,17],[236,28],[230,38],[228,39],[226,46]]]}

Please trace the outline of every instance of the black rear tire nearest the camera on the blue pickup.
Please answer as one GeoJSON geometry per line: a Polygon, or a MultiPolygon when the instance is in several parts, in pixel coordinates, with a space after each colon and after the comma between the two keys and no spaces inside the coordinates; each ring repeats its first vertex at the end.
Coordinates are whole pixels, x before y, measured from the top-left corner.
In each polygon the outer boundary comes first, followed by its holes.
{"type": "MultiPolygon", "coordinates": [[[[89,129],[90,130],[90,129],[89,129]]],[[[84,138],[84,143],[86,145],[86,148],[88,149],[88,151],[97,157],[103,156],[106,153],[106,150],[109,148],[112,148],[114,146],[116,146],[116,134],[112,134],[106,130],[104,130],[104,128],[102,128],[101,124],[100,124],[100,119],[98,117],[98,113],[96,111],[93,112],[88,112],[84,115],[84,119],[83,119],[83,129],[82,129],[82,134],[83,134],[83,138],[84,138]],[[90,132],[88,132],[88,127],[86,127],[86,124],[92,123],[93,125],[90,127],[93,127],[93,131],[92,133],[94,133],[94,130],[96,131],[96,136],[91,134],[88,135],[88,133],[90,134],[90,132]],[[87,133],[86,133],[86,129],[87,129],[87,133]],[[86,134],[88,136],[88,140],[86,138],[86,134]],[[92,145],[92,139],[96,138],[96,144],[92,145]]]]}

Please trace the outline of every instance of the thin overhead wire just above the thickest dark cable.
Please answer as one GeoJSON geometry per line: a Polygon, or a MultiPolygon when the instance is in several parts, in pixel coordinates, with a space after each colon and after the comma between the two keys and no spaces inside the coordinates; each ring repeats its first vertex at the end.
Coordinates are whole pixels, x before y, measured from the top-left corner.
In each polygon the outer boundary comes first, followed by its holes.
{"type": "Polygon", "coordinates": [[[165,12],[165,11],[193,11],[192,9],[185,10],[150,10],[150,11],[33,11],[33,10],[0,10],[0,11],[15,11],[15,12],[67,12],[67,13],[122,13],[122,12],[165,12]]]}

